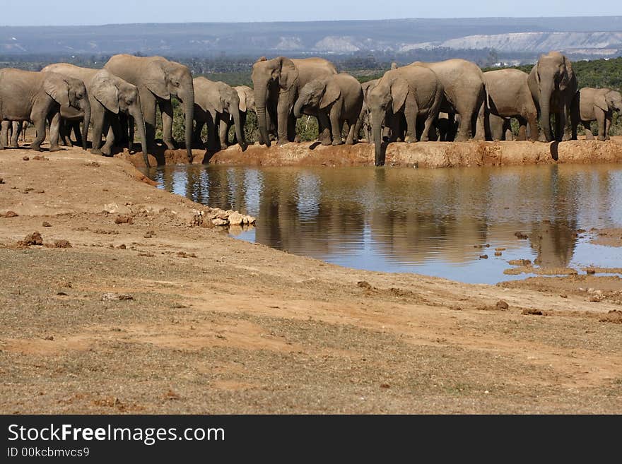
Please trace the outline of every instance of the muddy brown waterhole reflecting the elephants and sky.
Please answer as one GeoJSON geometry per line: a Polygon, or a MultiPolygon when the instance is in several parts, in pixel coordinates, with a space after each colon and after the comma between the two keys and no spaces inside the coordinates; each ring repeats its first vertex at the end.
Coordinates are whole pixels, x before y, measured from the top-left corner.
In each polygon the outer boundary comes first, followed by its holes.
{"type": "Polygon", "coordinates": [[[256,216],[257,227],[230,230],[238,239],[341,266],[495,283],[529,275],[503,273],[517,258],[580,273],[622,263],[621,248],[589,244],[589,232],[576,233],[622,226],[618,165],[178,165],[152,169],[151,177],[199,203],[256,216]],[[495,256],[495,248],[505,250],[495,256]]]}

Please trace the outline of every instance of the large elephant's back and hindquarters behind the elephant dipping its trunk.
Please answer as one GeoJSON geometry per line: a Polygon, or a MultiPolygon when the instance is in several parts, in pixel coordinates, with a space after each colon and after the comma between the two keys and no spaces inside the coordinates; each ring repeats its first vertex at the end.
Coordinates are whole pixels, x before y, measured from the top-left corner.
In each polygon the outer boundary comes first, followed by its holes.
{"type": "Polygon", "coordinates": [[[455,140],[466,141],[471,137],[484,140],[483,105],[486,90],[479,66],[464,59],[447,59],[435,63],[415,61],[413,64],[431,69],[442,83],[445,98],[440,111],[459,116],[456,118],[460,122],[455,140]]]}

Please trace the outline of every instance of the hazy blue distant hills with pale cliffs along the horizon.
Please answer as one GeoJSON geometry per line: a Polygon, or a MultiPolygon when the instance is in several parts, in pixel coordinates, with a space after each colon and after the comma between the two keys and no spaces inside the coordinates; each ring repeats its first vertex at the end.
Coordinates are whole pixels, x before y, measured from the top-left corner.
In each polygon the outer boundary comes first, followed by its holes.
{"type": "Polygon", "coordinates": [[[365,54],[491,49],[575,58],[622,55],[622,16],[457,18],[288,23],[174,23],[0,27],[0,54],[218,56],[365,54]]]}

